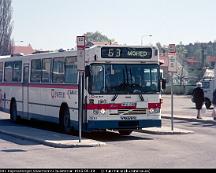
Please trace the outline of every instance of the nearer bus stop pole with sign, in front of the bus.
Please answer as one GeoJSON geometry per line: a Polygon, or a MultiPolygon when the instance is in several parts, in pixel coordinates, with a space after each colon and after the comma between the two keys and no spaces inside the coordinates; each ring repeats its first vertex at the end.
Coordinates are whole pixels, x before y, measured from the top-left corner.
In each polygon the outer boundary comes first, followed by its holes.
{"type": "Polygon", "coordinates": [[[77,36],[77,70],[79,72],[78,87],[78,121],[79,121],[79,142],[82,140],[82,119],[84,101],[84,72],[85,72],[85,36],[77,36]]]}

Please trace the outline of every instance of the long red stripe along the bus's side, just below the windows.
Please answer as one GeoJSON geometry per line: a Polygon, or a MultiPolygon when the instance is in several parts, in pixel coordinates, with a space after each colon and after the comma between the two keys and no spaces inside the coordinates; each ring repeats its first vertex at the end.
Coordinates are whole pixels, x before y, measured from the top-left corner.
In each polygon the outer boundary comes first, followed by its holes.
{"type": "Polygon", "coordinates": [[[20,84],[20,83],[0,83],[0,86],[14,86],[14,87],[29,86],[29,87],[32,87],[32,88],[78,89],[78,85],[64,85],[64,84],[20,84]]]}

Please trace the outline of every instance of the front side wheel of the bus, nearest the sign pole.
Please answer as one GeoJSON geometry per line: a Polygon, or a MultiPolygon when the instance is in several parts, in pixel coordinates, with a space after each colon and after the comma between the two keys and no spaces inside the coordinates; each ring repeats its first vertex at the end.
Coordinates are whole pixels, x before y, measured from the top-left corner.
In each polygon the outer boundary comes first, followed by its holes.
{"type": "Polygon", "coordinates": [[[70,127],[70,112],[67,106],[61,106],[60,108],[60,128],[63,132],[69,133],[71,130],[70,127]]]}

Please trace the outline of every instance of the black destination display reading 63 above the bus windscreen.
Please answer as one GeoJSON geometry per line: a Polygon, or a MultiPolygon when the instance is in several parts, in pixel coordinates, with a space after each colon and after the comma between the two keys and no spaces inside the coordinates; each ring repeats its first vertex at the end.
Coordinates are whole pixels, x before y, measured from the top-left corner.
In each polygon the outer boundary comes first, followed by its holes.
{"type": "Polygon", "coordinates": [[[151,48],[133,48],[133,47],[102,47],[101,58],[133,58],[150,59],[152,57],[151,48]]]}

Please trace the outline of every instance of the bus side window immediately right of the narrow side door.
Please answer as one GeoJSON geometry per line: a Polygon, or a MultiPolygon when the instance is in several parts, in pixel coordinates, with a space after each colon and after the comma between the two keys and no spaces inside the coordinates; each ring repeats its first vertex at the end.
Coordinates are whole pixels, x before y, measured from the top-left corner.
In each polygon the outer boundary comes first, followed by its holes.
{"type": "Polygon", "coordinates": [[[31,61],[31,82],[41,82],[41,60],[33,59],[31,61]]]}

